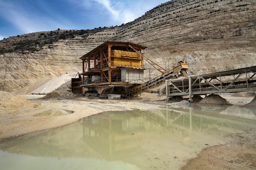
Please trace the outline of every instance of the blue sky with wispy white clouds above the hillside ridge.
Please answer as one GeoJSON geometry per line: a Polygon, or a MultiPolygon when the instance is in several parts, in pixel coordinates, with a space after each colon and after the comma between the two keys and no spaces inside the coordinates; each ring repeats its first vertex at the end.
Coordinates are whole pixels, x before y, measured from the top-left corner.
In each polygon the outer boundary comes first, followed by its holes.
{"type": "Polygon", "coordinates": [[[59,29],[126,24],[168,0],[0,0],[0,40],[59,29]]]}

